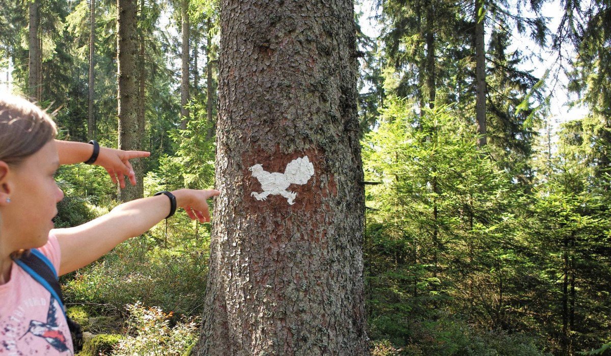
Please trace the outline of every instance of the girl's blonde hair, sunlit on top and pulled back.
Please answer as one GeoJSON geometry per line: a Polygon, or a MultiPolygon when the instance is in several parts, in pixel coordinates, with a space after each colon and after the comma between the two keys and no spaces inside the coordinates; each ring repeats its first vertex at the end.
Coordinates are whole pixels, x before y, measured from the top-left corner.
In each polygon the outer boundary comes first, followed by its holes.
{"type": "Polygon", "coordinates": [[[45,111],[24,98],[0,94],[0,161],[18,166],[56,136],[57,126],[45,111]]]}

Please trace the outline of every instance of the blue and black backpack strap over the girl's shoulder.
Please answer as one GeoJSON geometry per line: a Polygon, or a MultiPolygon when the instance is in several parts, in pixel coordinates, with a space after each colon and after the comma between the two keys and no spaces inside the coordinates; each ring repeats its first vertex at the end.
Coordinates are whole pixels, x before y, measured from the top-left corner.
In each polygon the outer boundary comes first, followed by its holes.
{"type": "Polygon", "coordinates": [[[62,290],[59,286],[57,271],[51,261],[49,261],[44,254],[40,253],[40,251],[33,249],[30,250],[30,254],[27,256],[21,256],[21,258],[15,259],[15,263],[51,293],[51,296],[57,300],[57,303],[59,303],[65,315],[62,290]]]}

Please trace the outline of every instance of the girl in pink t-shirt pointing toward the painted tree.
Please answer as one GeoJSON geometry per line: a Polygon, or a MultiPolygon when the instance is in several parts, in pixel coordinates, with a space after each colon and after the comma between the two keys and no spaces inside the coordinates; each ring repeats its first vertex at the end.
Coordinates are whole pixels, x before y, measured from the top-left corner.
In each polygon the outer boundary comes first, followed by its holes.
{"type": "Polygon", "coordinates": [[[15,263],[37,248],[59,275],[89,264],[120,242],[140,235],[173,213],[210,221],[207,199],[217,190],[181,189],[123,203],[100,218],[53,229],[64,193],[54,174],[59,165],[95,160],[112,180],[135,184],[129,160],[148,152],[55,140],[53,121],[37,106],[11,95],[0,97],[0,354],[71,355],[67,321],[42,284],[15,263]],[[95,157],[97,153],[97,158],[95,157]]]}

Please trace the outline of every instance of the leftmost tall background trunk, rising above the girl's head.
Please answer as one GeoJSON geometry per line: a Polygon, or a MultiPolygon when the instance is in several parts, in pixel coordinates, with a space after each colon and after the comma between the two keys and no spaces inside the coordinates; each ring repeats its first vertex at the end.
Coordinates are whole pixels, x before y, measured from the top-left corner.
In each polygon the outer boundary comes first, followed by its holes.
{"type": "Polygon", "coordinates": [[[40,0],[34,0],[29,3],[29,75],[27,80],[27,91],[31,100],[40,102],[41,98],[41,73],[42,55],[40,50],[40,37],[38,28],[40,27],[40,0]]]}

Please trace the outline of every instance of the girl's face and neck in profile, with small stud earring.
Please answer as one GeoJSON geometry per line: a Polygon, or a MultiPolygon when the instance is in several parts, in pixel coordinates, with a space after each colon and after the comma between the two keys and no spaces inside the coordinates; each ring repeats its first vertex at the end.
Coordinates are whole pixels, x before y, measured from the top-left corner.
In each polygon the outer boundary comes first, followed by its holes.
{"type": "Polygon", "coordinates": [[[64,198],[55,182],[57,168],[59,157],[51,140],[7,174],[3,189],[10,204],[2,209],[2,229],[13,251],[45,245],[57,202],[64,198]]]}

